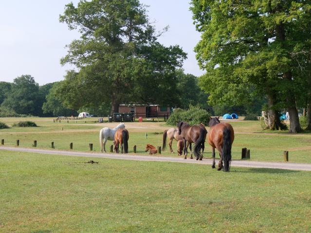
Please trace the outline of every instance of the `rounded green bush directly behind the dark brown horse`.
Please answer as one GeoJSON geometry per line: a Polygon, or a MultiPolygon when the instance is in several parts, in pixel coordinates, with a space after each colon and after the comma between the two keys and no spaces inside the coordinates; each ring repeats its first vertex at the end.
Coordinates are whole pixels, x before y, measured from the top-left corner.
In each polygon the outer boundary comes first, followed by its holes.
{"type": "Polygon", "coordinates": [[[180,109],[177,108],[173,113],[168,117],[166,124],[168,125],[177,125],[181,120],[188,122],[190,125],[196,125],[203,123],[208,125],[210,119],[210,113],[206,110],[201,109],[199,106],[189,106],[189,109],[180,109]]]}

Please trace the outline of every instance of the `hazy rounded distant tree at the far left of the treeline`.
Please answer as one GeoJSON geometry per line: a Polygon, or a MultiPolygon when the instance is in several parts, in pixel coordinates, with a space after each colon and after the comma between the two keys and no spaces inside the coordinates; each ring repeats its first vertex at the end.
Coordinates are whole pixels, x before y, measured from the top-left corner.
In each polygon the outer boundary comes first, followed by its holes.
{"type": "Polygon", "coordinates": [[[14,79],[11,92],[1,106],[13,109],[18,114],[36,114],[39,85],[31,75],[14,79]]]}

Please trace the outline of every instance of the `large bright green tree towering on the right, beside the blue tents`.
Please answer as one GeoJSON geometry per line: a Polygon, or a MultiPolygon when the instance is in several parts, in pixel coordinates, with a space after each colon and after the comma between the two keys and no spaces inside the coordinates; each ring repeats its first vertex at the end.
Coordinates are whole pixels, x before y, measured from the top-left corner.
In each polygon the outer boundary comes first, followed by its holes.
{"type": "MultiPolygon", "coordinates": [[[[255,88],[267,96],[269,127],[280,127],[278,110],[290,114],[290,132],[301,131],[296,96],[300,88],[293,77],[297,69],[291,56],[303,18],[309,17],[309,1],[211,1],[192,0],[191,10],[202,39],[196,46],[197,59],[210,80],[227,85],[255,88]]],[[[209,90],[211,96],[216,92],[209,90]]],[[[230,91],[229,91],[230,93],[230,91]]]]}

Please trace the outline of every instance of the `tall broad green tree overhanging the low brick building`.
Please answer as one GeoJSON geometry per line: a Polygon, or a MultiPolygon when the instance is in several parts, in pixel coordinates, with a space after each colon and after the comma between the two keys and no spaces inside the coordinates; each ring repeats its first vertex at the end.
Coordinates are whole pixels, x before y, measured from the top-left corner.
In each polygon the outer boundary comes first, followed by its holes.
{"type": "Polygon", "coordinates": [[[61,63],[78,68],[57,88],[70,108],[110,103],[111,113],[122,102],[176,104],[176,67],[186,54],[165,47],[148,21],[139,0],[80,1],[67,4],[60,22],[82,34],[68,46],[61,63]]]}

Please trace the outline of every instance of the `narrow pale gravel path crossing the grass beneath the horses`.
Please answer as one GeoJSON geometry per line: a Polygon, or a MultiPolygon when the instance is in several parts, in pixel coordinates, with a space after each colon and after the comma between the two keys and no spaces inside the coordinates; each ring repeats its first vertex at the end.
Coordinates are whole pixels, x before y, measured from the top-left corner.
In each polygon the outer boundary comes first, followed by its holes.
{"type": "MultiPolygon", "coordinates": [[[[203,159],[197,161],[195,159],[183,159],[182,157],[161,157],[161,156],[146,156],[146,155],[132,155],[132,154],[112,154],[112,153],[98,153],[98,152],[78,152],[68,150],[42,150],[30,149],[19,147],[4,147],[0,146],[0,150],[10,150],[18,152],[33,152],[41,154],[56,154],[66,156],[80,156],[92,158],[109,158],[109,159],[125,159],[125,160],[138,160],[138,161],[157,161],[157,162],[175,162],[175,163],[189,163],[189,164],[202,164],[211,165],[211,159],[203,159]]],[[[261,167],[261,168],[278,168],[288,170],[304,170],[311,171],[311,164],[298,164],[298,163],[285,163],[285,162],[256,162],[247,160],[233,160],[231,166],[239,167],[261,167]]]]}

